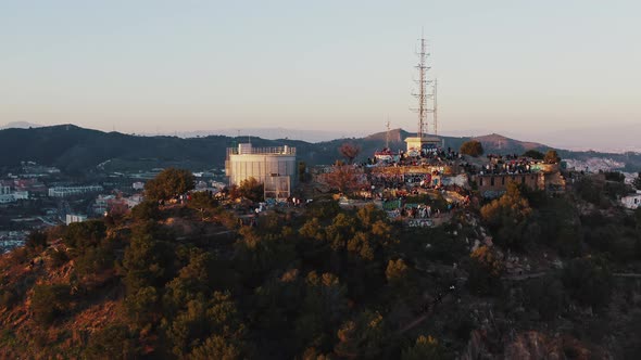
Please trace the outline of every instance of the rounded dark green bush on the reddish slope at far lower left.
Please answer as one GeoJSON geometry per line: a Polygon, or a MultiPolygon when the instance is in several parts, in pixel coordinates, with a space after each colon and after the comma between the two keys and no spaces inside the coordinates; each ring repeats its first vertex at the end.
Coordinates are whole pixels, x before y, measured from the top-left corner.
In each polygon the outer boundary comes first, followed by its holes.
{"type": "Polygon", "coordinates": [[[34,318],[42,324],[51,324],[66,313],[70,300],[70,285],[36,285],[32,297],[34,318]]]}

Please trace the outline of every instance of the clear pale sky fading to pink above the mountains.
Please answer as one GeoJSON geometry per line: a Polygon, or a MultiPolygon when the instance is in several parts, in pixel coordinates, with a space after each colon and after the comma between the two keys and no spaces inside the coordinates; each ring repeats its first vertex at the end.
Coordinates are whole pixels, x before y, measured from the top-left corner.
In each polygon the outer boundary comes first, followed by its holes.
{"type": "Polygon", "coordinates": [[[423,33],[439,133],[641,147],[628,130],[640,13],[616,0],[0,0],[0,125],[415,131],[423,33]]]}

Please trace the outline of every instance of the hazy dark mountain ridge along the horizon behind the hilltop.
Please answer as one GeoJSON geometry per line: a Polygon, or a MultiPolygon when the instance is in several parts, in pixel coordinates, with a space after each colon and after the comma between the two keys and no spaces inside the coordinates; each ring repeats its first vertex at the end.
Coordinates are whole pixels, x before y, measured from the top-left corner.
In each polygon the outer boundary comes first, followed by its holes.
{"type": "MultiPolygon", "coordinates": [[[[390,130],[392,151],[405,149],[403,140],[413,136],[403,129],[390,130]]],[[[521,154],[527,150],[545,151],[549,147],[535,142],[521,142],[497,133],[489,136],[439,137],[445,147],[457,150],[470,139],[479,140],[486,153],[521,154]]],[[[338,147],[344,142],[353,142],[361,147],[360,160],[373,156],[374,152],[386,145],[387,131],[364,138],[335,139],[311,143],[292,139],[266,140],[251,138],[255,146],[289,145],[297,147],[300,160],[309,165],[332,164],[340,158],[338,147]]],[[[11,128],[0,130],[0,167],[20,165],[23,160],[35,160],[56,166],[68,172],[96,170],[105,163],[108,171],[126,171],[156,167],[177,166],[193,170],[221,168],[224,165],[226,147],[247,142],[247,137],[209,136],[183,139],[178,137],[142,137],[120,132],[103,132],[80,128],[74,125],[60,125],[30,129],[11,128]]],[[[577,159],[607,156],[623,162],[629,171],[641,170],[641,154],[604,154],[595,152],[560,151],[562,157],[577,159]]]]}

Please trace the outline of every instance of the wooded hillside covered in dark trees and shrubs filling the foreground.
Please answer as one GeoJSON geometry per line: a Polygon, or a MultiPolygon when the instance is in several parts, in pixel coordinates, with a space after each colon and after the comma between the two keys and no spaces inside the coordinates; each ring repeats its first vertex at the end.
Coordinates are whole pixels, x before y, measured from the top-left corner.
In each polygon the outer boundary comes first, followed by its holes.
{"type": "Polygon", "coordinates": [[[52,228],[0,256],[0,358],[634,358],[641,210],[606,188],[423,229],[322,198],[247,226],[204,193],[52,228]]]}

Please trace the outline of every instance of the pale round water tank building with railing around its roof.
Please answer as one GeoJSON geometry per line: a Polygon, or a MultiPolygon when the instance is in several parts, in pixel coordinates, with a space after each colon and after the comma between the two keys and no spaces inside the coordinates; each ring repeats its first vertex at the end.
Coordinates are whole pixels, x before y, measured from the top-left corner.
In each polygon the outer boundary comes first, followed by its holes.
{"type": "Polygon", "coordinates": [[[227,147],[225,175],[230,185],[254,178],[265,185],[265,198],[286,200],[298,181],[296,147],[253,147],[251,143],[227,147]]]}

